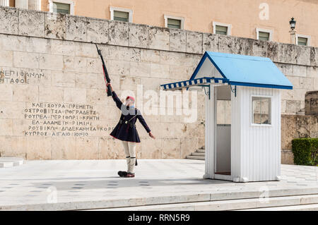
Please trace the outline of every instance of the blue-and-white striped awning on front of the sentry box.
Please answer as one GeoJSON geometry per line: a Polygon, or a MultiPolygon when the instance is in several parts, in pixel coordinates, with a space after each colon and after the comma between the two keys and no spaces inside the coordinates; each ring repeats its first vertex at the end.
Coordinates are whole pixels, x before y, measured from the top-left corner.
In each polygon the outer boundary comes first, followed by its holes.
{"type": "Polygon", "coordinates": [[[205,85],[210,83],[228,83],[227,79],[224,78],[196,78],[193,80],[184,80],[175,83],[167,83],[165,85],[160,85],[163,87],[163,90],[179,90],[184,87],[191,87],[197,85],[205,85]]]}

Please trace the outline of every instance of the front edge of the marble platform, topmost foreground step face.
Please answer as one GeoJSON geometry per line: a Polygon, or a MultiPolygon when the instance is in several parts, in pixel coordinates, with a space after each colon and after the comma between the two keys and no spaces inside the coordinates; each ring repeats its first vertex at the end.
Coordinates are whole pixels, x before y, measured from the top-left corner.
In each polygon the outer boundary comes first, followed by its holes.
{"type": "MultiPolygon", "coordinates": [[[[148,195],[144,197],[120,197],[118,199],[107,200],[83,200],[81,202],[57,202],[57,203],[25,203],[24,205],[0,205],[0,210],[95,210],[113,209],[122,207],[141,207],[153,205],[186,204],[193,202],[211,203],[225,200],[259,200],[259,196],[264,195],[264,191],[253,188],[251,190],[218,190],[217,192],[206,191],[204,193],[179,193],[173,195],[148,195]]],[[[268,196],[288,197],[288,196],[318,195],[318,187],[300,188],[279,188],[269,190],[268,196]]],[[[300,201],[302,204],[316,204],[314,202],[300,201]]],[[[296,202],[298,203],[298,202],[296,202]]],[[[240,205],[240,204],[238,204],[240,205]]],[[[277,205],[276,205],[277,206],[277,205]]],[[[274,207],[274,205],[273,205],[274,207]]],[[[253,207],[250,207],[253,208],[253,207]]],[[[255,207],[254,207],[255,208],[255,207]]],[[[243,209],[237,208],[237,209],[243,209]]]]}

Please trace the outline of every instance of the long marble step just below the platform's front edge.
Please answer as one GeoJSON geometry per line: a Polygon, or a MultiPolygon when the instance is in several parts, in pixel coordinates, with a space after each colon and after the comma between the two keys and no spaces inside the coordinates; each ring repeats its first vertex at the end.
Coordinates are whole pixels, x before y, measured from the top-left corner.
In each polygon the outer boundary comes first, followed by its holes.
{"type": "Polygon", "coordinates": [[[250,198],[238,200],[220,200],[208,202],[188,202],[165,205],[146,205],[139,207],[121,207],[112,209],[98,209],[98,211],[221,211],[237,209],[267,209],[268,207],[302,206],[307,204],[318,204],[317,195],[295,195],[287,197],[268,197],[267,199],[250,198]]]}

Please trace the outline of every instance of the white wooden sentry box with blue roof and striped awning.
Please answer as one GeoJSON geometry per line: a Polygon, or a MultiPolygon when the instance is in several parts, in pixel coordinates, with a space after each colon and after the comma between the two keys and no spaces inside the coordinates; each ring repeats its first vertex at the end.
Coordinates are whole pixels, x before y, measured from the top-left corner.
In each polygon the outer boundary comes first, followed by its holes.
{"type": "Polygon", "coordinates": [[[279,181],[280,91],[293,85],[271,59],[206,51],[190,80],[161,86],[206,92],[204,178],[279,181]]]}

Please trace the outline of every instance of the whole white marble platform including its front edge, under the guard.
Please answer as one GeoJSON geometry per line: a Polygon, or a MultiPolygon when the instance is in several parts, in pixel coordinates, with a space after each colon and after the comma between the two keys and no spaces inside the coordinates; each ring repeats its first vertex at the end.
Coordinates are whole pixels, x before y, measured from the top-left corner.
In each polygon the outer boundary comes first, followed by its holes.
{"type": "Polygon", "coordinates": [[[114,209],[318,195],[317,166],[282,165],[281,181],[233,183],[203,179],[201,160],[138,159],[138,163],[135,178],[117,176],[126,169],[124,159],[25,161],[0,168],[0,209],[114,209]]]}

